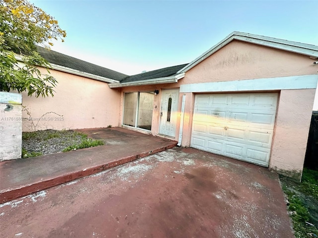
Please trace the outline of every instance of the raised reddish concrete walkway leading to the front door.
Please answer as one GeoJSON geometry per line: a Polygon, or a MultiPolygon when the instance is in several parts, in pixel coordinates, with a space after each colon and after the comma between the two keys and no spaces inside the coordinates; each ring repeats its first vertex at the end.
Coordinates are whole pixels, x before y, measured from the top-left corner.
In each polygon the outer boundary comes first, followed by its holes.
{"type": "Polygon", "coordinates": [[[0,203],[92,175],[176,146],[177,142],[124,128],[81,129],[105,145],[0,162],[0,203]]]}

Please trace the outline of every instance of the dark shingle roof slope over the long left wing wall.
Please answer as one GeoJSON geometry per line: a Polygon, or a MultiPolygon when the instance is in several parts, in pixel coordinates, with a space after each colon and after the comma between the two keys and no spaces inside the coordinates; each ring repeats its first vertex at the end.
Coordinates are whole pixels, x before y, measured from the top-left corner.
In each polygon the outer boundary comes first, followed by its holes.
{"type": "Polygon", "coordinates": [[[71,56],[61,54],[52,50],[47,50],[43,47],[37,47],[38,53],[50,63],[58,64],[61,66],[77,69],[82,72],[91,73],[94,75],[102,76],[105,78],[115,79],[120,81],[127,77],[127,74],[123,74],[109,68],[79,60],[71,56]]]}

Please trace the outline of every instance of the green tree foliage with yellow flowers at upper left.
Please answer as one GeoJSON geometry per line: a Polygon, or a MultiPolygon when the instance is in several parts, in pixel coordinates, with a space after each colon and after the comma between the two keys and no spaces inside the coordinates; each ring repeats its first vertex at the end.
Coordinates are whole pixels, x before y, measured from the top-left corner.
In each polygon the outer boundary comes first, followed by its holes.
{"type": "Polygon", "coordinates": [[[0,0],[0,91],[27,91],[28,96],[53,96],[57,81],[50,63],[37,53],[66,32],[58,21],[27,0],[0,0]],[[22,62],[21,62],[22,61],[22,62]],[[47,69],[41,73],[37,66],[47,69]]]}

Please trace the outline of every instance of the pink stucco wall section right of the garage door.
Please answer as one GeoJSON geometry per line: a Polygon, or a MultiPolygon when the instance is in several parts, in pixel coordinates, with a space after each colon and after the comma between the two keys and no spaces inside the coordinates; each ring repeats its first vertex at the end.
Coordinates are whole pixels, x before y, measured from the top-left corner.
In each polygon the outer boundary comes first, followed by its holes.
{"type": "Polygon", "coordinates": [[[296,175],[303,171],[315,91],[281,91],[272,141],[271,169],[296,175]]]}

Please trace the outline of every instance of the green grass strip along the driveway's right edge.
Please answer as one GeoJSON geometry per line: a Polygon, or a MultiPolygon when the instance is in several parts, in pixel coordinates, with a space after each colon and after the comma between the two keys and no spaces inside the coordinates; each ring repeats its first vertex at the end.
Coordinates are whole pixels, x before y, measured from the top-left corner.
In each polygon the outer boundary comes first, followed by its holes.
{"type": "Polygon", "coordinates": [[[280,177],[296,238],[318,238],[318,171],[304,168],[302,182],[280,177]]]}

